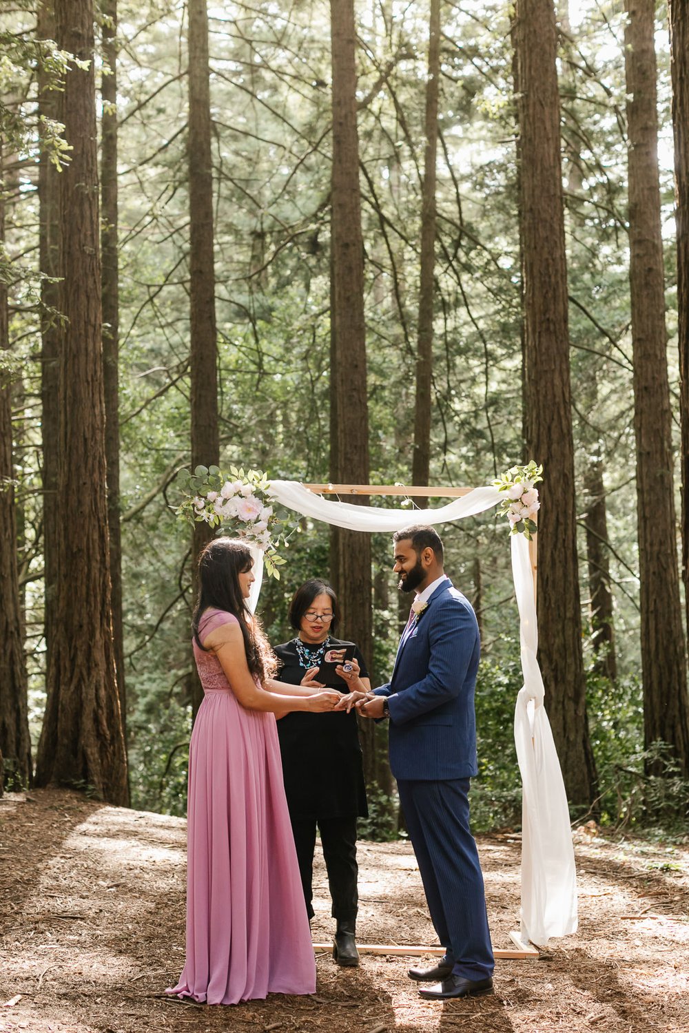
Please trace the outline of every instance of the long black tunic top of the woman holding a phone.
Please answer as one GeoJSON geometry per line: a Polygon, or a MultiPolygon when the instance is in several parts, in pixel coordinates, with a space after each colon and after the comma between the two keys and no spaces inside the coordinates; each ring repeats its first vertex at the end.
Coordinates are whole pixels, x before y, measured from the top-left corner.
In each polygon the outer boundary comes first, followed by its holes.
{"type": "MultiPolygon", "coordinates": [[[[339,646],[340,638],[330,638],[339,646]]],[[[282,664],[278,681],[300,685],[307,668],[300,666],[294,639],[275,647],[282,664]]],[[[368,670],[358,647],[354,656],[361,677],[368,670]]],[[[342,683],[340,683],[340,688],[342,683]]],[[[278,721],[287,806],[292,818],[368,817],[356,714],[309,714],[293,711],[278,721]]]]}

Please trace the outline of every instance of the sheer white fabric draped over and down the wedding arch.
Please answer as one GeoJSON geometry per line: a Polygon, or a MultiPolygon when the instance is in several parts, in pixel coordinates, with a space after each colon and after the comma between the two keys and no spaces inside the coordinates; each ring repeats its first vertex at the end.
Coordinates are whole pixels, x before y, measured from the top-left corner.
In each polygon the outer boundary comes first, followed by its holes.
{"type": "MultiPolygon", "coordinates": [[[[282,505],[304,516],[352,531],[399,531],[412,522],[443,524],[491,509],[504,498],[496,488],[476,488],[437,509],[384,509],[332,502],[293,480],[272,480],[282,505]]],[[[536,659],[536,602],[524,535],[511,538],[512,576],[520,611],[524,685],[514,709],[514,743],[522,774],[522,937],[544,945],[552,936],[576,930],[576,872],[569,811],[560,762],[543,707],[543,682],[536,659]]],[[[262,576],[262,555],[255,553],[251,609],[262,576]]]]}

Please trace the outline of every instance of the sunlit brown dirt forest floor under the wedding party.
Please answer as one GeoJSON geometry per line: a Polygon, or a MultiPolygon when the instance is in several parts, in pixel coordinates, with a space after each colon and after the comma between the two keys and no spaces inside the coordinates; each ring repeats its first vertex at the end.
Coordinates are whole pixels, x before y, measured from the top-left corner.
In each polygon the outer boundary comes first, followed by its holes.
{"type": "MultiPolygon", "coordinates": [[[[317,957],[312,997],[165,998],[184,961],[185,822],[66,791],[0,800],[0,1031],[647,1033],[689,1030],[689,847],[575,836],[580,929],[498,961],[493,997],[422,1001],[407,958],[317,957]]],[[[519,836],[479,839],[495,947],[518,928],[519,836]]],[[[437,943],[411,846],[359,846],[361,943],[437,943]]],[[[315,942],[332,919],[322,863],[315,942]]]]}

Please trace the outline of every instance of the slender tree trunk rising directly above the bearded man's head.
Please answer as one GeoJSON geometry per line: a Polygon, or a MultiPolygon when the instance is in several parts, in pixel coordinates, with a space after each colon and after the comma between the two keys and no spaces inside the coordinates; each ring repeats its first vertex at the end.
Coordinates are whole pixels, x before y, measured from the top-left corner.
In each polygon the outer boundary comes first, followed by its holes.
{"type": "Polygon", "coordinates": [[[412,484],[428,484],[431,465],[431,385],[433,379],[433,309],[436,237],[436,157],[440,84],[440,0],[431,0],[429,72],[426,82],[426,150],[421,189],[421,258],[418,294],[416,397],[412,484]]]}

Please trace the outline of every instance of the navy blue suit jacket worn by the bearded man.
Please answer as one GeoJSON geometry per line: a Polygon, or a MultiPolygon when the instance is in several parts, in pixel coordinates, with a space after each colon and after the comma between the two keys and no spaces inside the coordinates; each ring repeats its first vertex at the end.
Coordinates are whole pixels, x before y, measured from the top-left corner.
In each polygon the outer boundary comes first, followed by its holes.
{"type": "Polygon", "coordinates": [[[471,603],[447,578],[398,652],[388,697],[396,779],[465,779],[477,773],[474,689],[480,643],[471,603]]]}

